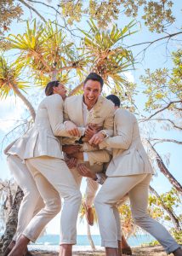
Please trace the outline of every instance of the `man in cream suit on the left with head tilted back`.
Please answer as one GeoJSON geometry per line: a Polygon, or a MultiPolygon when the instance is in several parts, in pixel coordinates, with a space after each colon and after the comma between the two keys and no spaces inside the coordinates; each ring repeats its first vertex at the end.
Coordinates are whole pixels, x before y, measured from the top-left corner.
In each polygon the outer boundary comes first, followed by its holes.
{"type": "Polygon", "coordinates": [[[45,207],[31,219],[9,256],[23,256],[29,241],[37,240],[44,226],[60,212],[60,197],[64,199],[60,219],[60,256],[71,256],[72,245],[77,242],[77,214],[82,195],[65,165],[60,140],[56,137],[66,136],[62,112],[65,87],[59,81],[50,82],[46,95],[37,109],[24,154],[45,207]]]}

